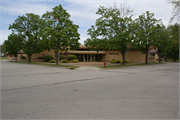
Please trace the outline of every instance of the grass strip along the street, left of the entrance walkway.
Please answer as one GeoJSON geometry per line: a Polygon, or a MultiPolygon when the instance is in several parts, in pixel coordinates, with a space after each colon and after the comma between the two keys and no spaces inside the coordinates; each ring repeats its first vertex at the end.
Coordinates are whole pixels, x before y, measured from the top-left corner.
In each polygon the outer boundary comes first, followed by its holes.
{"type": "Polygon", "coordinates": [[[53,63],[38,63],[38,62],[25,62],[25,61],[9,61],[9,62],[36,64],[36,65],[48,65],[48,66],[57,66],[57,67],[65,67],[65,68],[78,68],[79,67],[79,66],[72,66],[72,65],[56,65],[53,63]]]}

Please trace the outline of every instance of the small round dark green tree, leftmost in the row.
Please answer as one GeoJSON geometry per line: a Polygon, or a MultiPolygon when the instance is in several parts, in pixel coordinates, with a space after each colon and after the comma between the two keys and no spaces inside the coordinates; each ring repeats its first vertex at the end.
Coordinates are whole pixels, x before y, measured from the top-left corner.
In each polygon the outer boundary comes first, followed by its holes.
{"type": "Polygon", "coordinates": [[[14,55],[15,60],[17,61],[17,54],[19,50],[22,49],[23,39],[20,35],[17,34],[10,34],[8,36],[8,40],[4,41],[5,44],[5,52],[8,52],[10,55],[14,55]]]}

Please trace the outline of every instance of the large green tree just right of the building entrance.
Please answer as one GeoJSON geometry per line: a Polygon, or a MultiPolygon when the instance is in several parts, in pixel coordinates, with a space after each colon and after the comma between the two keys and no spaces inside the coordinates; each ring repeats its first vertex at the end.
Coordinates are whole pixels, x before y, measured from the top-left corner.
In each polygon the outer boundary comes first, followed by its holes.
{"type": "Polygon", "coordinates": [[[121,6],[105,8],[100,6],[96,14],[101,15],[96,20],[95,26],[88,30],[88,38],[85,45],[98,51],[99,49],[118,50],[122,54],[123,64],[125,64],[125,54],[129,49],[132,40],[135,40],[135,23],[128,14],[132,11],[121,6]]]}

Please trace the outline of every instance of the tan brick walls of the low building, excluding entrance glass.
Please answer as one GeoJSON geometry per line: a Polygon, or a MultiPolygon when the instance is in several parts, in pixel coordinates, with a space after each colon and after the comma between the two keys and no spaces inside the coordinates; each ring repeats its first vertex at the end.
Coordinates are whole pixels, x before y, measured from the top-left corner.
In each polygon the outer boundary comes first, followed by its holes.
{"type": "MultiPolygon", "coordinates": [[[[87,47],[85,47],[84,45],[81,45],[80,48],[82,49],[87,49],[87,47]]],[[[110,62],[112,59],[116,59],[116,60],[122,60],[122,55],[119,51],[99,51],[98,53],[96,51],[68,51],[71,54],[82,54],[83,56],[85,56],[85,54],[90,54],[90,60],[89,62],[92,61],[92,54],[100,54],[102,56],[102,59],[98,60],[101,62],[110,62]],[[74,53],[73,53],[74,52],[74,53]]],[[[126,55],[125,55],[125,60],[129,60],[132,63],[145,63],[145,54],[141,54],[141,51],[127,51],[126,55]]],[[[53,57],[53,59],[55,59],[55,53],[54,50],[48,51],[48,50],[44,50],[43,52],[37,53],[37,54],[33,54],[31,56],[31,61],[32,62],[43,62],[43,59],[38,59],[38,57],[43,57],[43,55],[51,55],[53,57]]],[[[28,55],[26,55],[26,60],[28,60],[28,55]]],[[[97,56],[98,59],[101,56],[97,56]]],[[[85,61],[85,60],[83,60],[85,61]]],[[[156,59],[148,59],[148,63],[151,62],[156,62],[156,59]]]]}

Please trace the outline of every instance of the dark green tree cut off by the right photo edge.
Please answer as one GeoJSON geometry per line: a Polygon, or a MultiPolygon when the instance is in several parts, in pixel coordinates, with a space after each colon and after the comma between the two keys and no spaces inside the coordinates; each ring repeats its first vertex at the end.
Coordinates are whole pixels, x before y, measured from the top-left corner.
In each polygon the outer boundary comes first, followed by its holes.
{"type": "Polygon", "coordinates": [[[167,48],[166,55],[172,57],[174,62],[179,59],[179,25],[168,26],[167,30],[170,32],[170,44],[167,48]]]}

